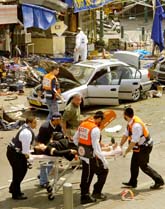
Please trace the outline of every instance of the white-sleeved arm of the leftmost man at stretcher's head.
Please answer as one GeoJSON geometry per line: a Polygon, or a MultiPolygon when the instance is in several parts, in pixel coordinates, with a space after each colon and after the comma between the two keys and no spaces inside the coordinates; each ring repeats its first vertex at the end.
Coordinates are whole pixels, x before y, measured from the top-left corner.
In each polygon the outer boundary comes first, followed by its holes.
{"type": "Polygon", "coordinates": [[[22,143],[22,154],[29,158],[32,133],[28,129],[22,130],[19,134],[19,141],[22,143]]]}

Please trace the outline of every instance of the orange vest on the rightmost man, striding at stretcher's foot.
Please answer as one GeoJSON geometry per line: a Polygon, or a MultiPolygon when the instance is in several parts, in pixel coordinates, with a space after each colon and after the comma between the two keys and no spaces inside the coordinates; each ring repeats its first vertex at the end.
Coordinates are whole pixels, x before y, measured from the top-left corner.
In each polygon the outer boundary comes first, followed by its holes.
{"type": "MultiPolygon", "coordinates": [[[[146,125],[144,124],[144,122],[139,117],[134,116],[133,117],[133,122],[131,124],[128,124],[128,126],[127,126],[127,130],[128,130],[128,134],[129,134],[128,142],[130,143],[131,140],[132,140],[132,127],[133,127],[134,123],[139,123],[142,126],[142,129],[143,129],[143,135],[142,136],[145,137],[146,141],[149,141],[150,140],[150,134],[149,134],[149,131],[148,131],[146,125]]],[[[139,147],[138,143],[136,143],[136,145],[134,146],[133,151],[134,152],[140,152],[140,147],[139,147]]]]}

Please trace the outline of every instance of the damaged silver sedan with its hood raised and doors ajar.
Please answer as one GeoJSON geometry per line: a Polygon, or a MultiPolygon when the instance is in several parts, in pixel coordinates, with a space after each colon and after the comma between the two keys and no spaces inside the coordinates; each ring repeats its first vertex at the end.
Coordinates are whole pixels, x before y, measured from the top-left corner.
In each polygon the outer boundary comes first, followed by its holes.
{"type": "MultiPolygon", "coordinates": [[[[117,59],[88,60],[63,69],[59,75],[63,111],[75,93],[82,95],[82,106],[118,105],[122,100],[138,101],[141,93],[150,90],[148,70],[139,70],[117,59]]],[[[44,96],[37,86],[28,96],[29,104],[47,110],[44,96]],[[39,93],[38,93],[39,92],[39,93]]]]}

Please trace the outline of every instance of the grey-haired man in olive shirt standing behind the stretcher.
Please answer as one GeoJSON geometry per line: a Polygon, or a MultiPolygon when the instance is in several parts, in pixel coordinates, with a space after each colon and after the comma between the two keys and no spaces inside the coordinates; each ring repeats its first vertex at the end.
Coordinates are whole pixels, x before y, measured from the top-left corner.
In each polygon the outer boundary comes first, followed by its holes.
{"type": "Polygon", "coordinates": [[[71,102],[65,107],[63,113],[63,131],[65,136],[72,139],[78,126],[80,125],[80,104],[82,98],[80,94],[75,94],[71,102]]]}

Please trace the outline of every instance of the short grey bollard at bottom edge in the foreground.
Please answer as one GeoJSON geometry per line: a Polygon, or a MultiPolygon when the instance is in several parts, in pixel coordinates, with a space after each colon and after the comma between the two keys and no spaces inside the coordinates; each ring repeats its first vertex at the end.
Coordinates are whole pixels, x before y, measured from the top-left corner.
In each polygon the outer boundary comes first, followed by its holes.
{"type": "Polygon", "coordinates": [[[72,184],[65,183],[63,185],[63,193],[64,193],[64,209],[73,209],[72,184]]]}

